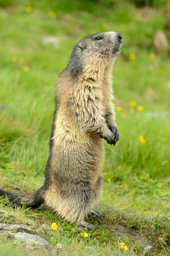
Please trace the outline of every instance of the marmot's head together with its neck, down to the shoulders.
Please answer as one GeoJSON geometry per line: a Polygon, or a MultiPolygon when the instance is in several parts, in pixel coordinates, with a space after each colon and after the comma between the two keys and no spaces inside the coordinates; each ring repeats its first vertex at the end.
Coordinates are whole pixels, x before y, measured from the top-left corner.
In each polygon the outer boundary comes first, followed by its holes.
{"type": "Polygon", "coordinates": [[[82,73],[90,75],[96,70],[104,71],[108,63],[116,59],[122,44],[122,35],[117,32],[99,32],[86,36],[74,47],[66,70],[73,77],[82,73]]]}

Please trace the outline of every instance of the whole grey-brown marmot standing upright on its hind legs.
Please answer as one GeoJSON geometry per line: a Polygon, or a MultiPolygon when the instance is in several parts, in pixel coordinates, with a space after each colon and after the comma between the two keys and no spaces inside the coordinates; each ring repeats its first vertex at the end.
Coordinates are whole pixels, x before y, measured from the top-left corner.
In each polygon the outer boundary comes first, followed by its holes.
{"type": "Polygon", "coordinates": [[[58,80],[45,183],[18,198],[0,189],[17,205],[45,203],[65,220],[93,228],[84,221],[101,191],[104,143],[119,140],[115,122],[111,72],[122,46],[122,35],[99,32],[82,38],[58,80]]]}

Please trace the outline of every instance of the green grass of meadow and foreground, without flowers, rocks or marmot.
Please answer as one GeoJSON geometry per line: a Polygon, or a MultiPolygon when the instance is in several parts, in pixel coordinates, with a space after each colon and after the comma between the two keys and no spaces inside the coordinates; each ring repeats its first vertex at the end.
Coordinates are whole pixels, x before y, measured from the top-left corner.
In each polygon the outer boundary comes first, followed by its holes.
{"type": "Polygon", "coordinates": [[[0,9],[0,106],[6,105],[0,108],[0,186],[4,189],[28,193],[43,184],[55,80],[77,41],[108,30],[121,32],[124,44],[113,68],[115,104],[122,106],[117,111],[120,140],[115,147],[105,144],[103,194],[97,206],[106,213],[105,221],[89,220],[99,229],[86,230],[85,239],[82,230],[44,206],[13,209],[1,200],[0,222],[30,225],[50,242],[46,249],[25,249],[9,234],[0,239],[1,255],[55,255],[55,244],[61,243],[60,255],[168,256],[170,223],[159,215],[168,217],[170,212],[170,48],[158,54],[152,47],[154,32],[164,26],[163,10],[157,9],[146,21],[141,9],[129,3],[117,3],[113,9],[94,5],[90,13],[77,2],[70,14],[61,6],[57,11],[54,2],[8,3],[0,9]],[[33,7],[31,14],[26,6],[33,7]],[[57,17],[49,17],[50,10],[57,17]],[[44,45],[45,36],[57,36],[58,46],[44,45]],[[151,52],[156,54],[154,60],[149,58],[151,52]],[[135,60],[129,59],[130,53],[135,60]],[[25,62],[13,62],[12,56],[24,57],[25,62]],[[131,101],[142,105],[143,111],[130,107],[131,101]],[[140,135],[146,144],[140,143],[140,135]],[[57,231],[42,229],[43,223],[50,227],[52,222],[57,222],[57,231]],[[119,247],[122,241],[127,252],[119,247]],[[148,244],[153,248],[144,254],[148,244]]]}

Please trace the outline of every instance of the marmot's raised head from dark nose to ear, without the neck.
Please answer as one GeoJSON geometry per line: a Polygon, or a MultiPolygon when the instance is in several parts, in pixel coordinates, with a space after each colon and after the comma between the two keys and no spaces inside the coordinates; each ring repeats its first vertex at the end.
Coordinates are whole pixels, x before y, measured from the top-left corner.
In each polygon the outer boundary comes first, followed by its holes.
{"type": "Polygon", "coordinates": [[[82,38],[76,45],[82,55],[97,55],[102,58],[116,57],[122,46],[122,35],[117,32],[99,32],[82,38]]]}

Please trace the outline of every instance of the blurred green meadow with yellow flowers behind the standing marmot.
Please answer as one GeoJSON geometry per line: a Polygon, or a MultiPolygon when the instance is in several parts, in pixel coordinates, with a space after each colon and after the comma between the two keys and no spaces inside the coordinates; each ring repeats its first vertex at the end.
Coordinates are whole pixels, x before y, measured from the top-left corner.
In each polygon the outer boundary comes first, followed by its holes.
{"type": "Polygon", "coordinates": [[[101,205],[169,214],[168,0],[0,0],[0,186],[43,184],[55,81],[84,36],[123,36],[113,67],[120,140],[106,146],[101,205]]]}

